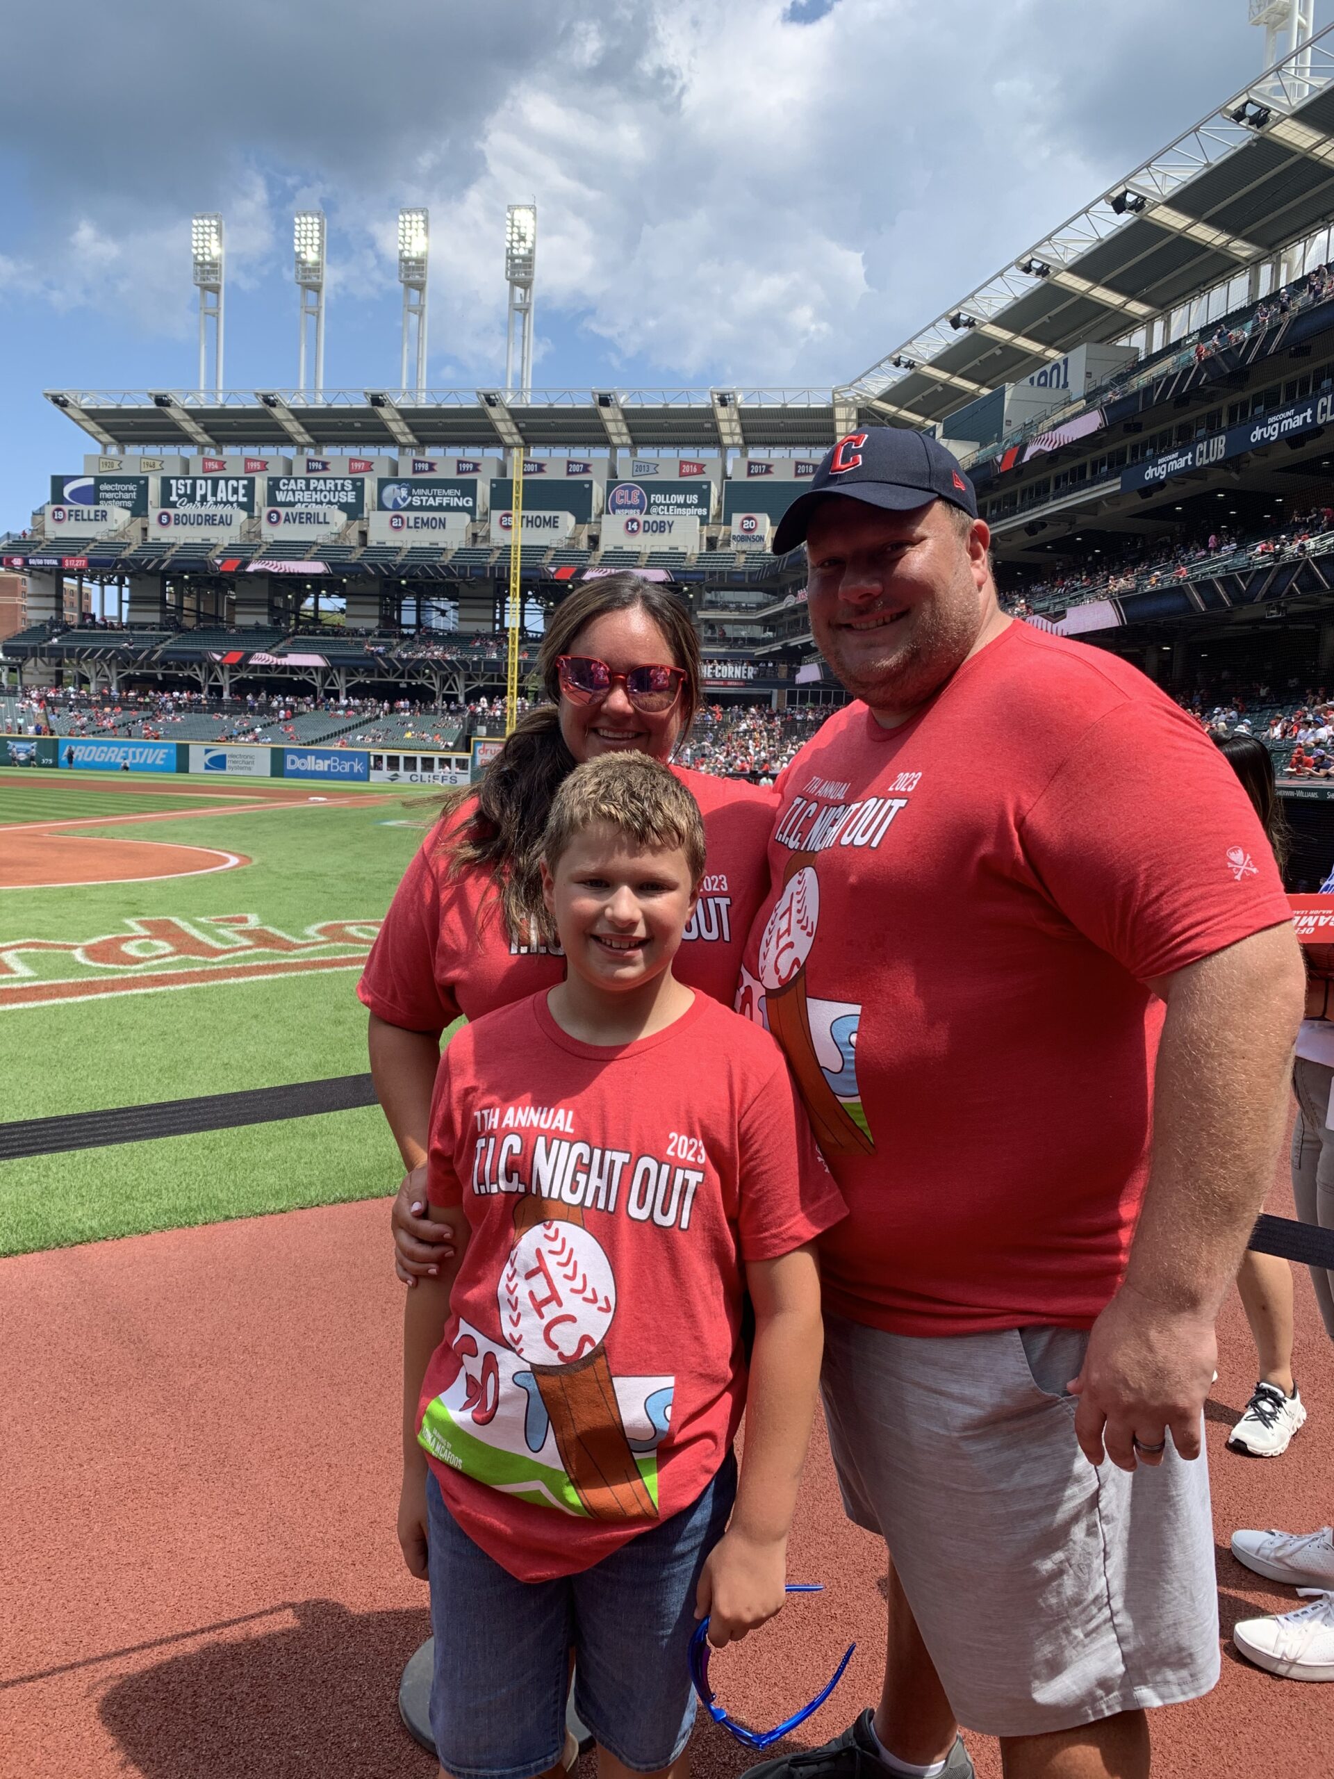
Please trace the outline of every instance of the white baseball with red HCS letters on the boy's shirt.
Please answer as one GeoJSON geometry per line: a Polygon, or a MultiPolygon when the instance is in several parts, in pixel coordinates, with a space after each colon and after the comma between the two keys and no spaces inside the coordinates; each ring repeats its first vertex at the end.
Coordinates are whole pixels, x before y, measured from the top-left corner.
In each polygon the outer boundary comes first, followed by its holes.
{"type": "Polygon", "coordinates": [[[541,1222],[510,1249],[496,1292],[505,1340],[528,1364],[573,1364],[601,1347],[615,1276],[582,1224],[541,1222]]]}

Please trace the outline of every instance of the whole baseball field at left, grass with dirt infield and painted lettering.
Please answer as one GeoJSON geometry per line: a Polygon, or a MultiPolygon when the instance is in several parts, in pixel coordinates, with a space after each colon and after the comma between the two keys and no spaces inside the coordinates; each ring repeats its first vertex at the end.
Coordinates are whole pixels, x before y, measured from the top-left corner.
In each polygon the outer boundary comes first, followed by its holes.
{"type": "MultiPolygon", "coordinates": [[[[356,980],[434,799],[0,772],[0,1123],[366,1069],[356,980]]],[[[375,1107],[0,1162],[0,1254],[390,1192],[375,1107]]]]}

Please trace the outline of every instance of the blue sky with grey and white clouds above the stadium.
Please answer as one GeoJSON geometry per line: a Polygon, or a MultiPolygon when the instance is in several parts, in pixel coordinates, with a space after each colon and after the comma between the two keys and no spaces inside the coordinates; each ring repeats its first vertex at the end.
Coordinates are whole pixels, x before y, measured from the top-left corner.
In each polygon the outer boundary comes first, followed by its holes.
{"type": "Polygon", "coordinates": [[[66,0],[5,50],[0,527],[80,466],[43,388],[196,381],[196,210],[226,217],[231,388],[295,382],[315,206],[325,386],[397,381],[400,205],[430,206],[430,384],[494,382],[528,197],[539,386],[827,386],[1252,78],[1263,36],[1245,0],[66,0]]]}

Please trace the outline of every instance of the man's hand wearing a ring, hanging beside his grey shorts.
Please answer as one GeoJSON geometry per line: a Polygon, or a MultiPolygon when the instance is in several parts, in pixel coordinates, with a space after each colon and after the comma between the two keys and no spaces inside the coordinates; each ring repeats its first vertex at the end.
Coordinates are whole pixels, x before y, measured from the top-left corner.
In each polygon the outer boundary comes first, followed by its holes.
{"type": "Polygon", "coordinates": [[[1199,1309],[1167,1309],[1122,1286],[1094,1322],[1080,1375],[1067,1386],[1080,1398],[1074,1436],[1090,1464],[1110,1457],[1119,1469],[1161,1464],[1172,1445],[1201,1453],[1201,1416],[1218,1347],[1213,1318],[1199,1309]],[[1135,1441],[1140,1446],[1135,1446],[1135,1441]]]}

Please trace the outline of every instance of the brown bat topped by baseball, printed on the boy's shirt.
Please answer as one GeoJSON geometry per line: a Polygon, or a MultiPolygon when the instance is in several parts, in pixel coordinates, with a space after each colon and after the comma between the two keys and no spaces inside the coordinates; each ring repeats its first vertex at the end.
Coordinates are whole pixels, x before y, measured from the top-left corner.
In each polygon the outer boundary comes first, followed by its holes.
{"type": "Polygon", "coordinates": [[[560,1462],[591,1517],[656,1519],[607,1359],[615,1277],[575,1206],[514,1206],[514,1247],[496,1297],[502,1334],[528,1361],[560,1462]]]}

